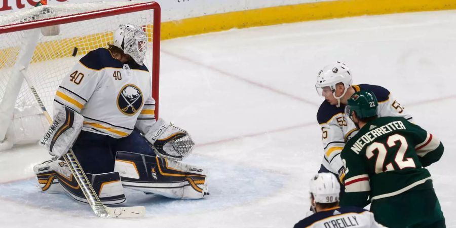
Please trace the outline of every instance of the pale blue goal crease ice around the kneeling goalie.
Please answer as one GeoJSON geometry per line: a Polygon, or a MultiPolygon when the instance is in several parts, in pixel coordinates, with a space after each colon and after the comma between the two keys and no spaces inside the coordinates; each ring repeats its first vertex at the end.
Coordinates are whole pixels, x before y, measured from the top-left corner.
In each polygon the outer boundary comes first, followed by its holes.
{"type": "MultiPolygon", "coordinates": [[[[209,168],[209,196],[200,200],[175,200],[124,188],[127,202],[111,207],[145,206],[146,215],[179,214],[224,209],[248,204],[278,192],[286,177],[256,168],[242,167],[200,156],[185,161],[209,168]]],[[[46,194],[36,188],[34,178],[0,184],[0,197],[28,206],[80,216],[93,216],[89,205],[66,194],[46,194]]],[[[116,209],[116,214],[122,214],[116,209]]]]}

